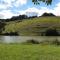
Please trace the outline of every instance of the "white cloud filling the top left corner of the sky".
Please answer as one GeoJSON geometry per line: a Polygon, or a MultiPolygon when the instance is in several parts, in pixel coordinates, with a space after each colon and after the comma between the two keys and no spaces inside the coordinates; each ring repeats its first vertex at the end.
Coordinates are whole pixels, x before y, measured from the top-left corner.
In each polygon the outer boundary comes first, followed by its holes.
{"type": "Polygon", "coordinates": [[[0,0],[0,9],[8,9],[11,7],[20,7],[27,3],[27,0],[0,0]]]}

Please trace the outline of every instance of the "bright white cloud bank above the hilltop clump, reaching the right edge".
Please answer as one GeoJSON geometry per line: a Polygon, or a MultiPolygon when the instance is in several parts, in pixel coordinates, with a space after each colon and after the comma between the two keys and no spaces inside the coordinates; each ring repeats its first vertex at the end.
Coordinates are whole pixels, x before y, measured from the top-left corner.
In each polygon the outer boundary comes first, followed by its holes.
{"type": "Polygon", "coordinates": [[[35,7],[32,7],[25,10],[25,12],[36,12],[38,13],[38,16],[41,16],[44,12],[53,13],[56,16],[60,16],[60,3],[56,4],[56,7],[54,7],[53,9],[47,7],[41,7],[40,9],[37,9],[35,7]]]}

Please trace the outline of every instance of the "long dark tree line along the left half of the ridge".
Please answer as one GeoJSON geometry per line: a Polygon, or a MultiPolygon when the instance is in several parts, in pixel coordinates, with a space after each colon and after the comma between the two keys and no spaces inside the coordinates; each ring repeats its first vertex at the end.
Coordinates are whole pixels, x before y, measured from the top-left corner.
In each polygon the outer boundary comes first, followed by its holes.
{"type": "Polygon", "coordinates": [[[28,17],[27,15],[19,15],[19,16],[13,16],[10,19],[0,19],[0,22],[9,22],[9,21],[22,21],[23,19],[30,19],[30,18],[35,18],[37,16],[30,16],[28,17]]]}

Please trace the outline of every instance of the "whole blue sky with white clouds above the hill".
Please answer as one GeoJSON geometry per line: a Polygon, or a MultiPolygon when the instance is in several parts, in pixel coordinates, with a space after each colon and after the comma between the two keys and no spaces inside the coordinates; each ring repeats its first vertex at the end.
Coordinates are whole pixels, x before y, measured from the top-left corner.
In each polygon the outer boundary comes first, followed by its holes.
{"type": "Polygon", "coordinates": [[[22,14],[41,16],[44,12],[60,16],[60,0],[53,0],[48,6],[43,2],[34,5],[32,0],[0,0],[0,19],[22,14]]]}

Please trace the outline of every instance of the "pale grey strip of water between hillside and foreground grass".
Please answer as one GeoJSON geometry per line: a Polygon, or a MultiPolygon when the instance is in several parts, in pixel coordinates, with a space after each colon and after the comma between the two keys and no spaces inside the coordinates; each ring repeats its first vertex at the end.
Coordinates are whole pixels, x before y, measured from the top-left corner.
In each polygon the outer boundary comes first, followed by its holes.
{"type": "Polygon", "coordinates": [[[54,41],[58,39],[60,41],[60,37],[46,37],[46,36],[0,36],[0,42],[2,43],[21,43],[27,40],[37,40],[39,42],[49,40],[54,41]]]}

